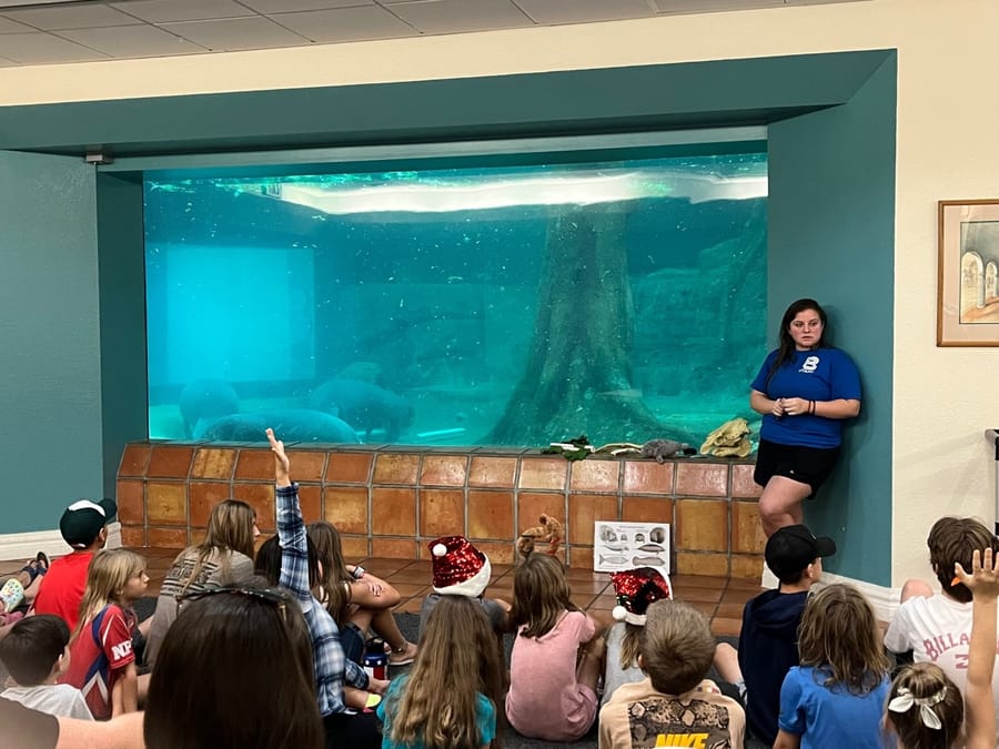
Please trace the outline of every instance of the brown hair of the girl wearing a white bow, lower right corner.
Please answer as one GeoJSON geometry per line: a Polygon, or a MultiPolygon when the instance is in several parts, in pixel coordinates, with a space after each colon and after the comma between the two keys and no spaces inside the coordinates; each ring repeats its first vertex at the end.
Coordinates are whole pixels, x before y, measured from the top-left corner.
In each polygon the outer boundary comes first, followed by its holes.
{"type": "Polygon", "coordinates": [[[935,664],[915,664],[898,672],[891,682],[888,701],[898,697],[899,689],[906,689],[914,698],[922,700],[936,698],[942,691],[942,699],[927,705],[937,718],[940,728],[932,729],[922,721],[922,707],[912,705],[904,712],[888,709],[885,712],[886,732],[895,731],[899,743],[906,749],[950,749],[962,738],[965,723],[965,700],[950,678],[935,664]]]}

